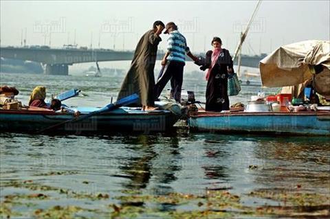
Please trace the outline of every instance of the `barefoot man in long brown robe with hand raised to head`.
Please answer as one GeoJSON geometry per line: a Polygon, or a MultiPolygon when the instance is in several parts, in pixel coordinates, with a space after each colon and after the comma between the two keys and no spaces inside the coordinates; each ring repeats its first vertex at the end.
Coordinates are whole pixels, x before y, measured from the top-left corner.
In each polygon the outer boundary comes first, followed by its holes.
{"type": "Polygon", "coordinates": [[[157,56],[157,46],[162,38],[159,37],[165,25],[162,21],[155,21],[153,29],[148,30],[137,43],[131,68],[122,82],[118,93],[118,100],[137,93],[140,96],[142,110],[152,111],[155,109],[154,68],[157,56]]]}

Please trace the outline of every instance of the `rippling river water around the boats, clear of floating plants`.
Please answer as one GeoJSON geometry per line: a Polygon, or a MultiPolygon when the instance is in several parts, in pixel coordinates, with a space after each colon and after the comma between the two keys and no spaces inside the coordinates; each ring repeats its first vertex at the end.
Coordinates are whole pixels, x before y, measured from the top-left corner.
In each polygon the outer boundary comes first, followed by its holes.
{"type": "MultiPolygon", "coordinates": [[[[129,65],[123,65],[126,69],[129,65]]],[[[192,69],[188,65],[186,69],[192,69]]],[[[18,98],[28,102],[32,89],[47,87],[47,95],[68,89],[82,90],[67,100],[70,106],[104,106],[115,99],[124,76],[44,76],[1,73],[1,85],[19,89],[18,98]]],[[[195,91],[204,101],[203,73],[187,73],[184,89],[195,91]]],[[[246,102],[261,90],[242,87],[230,103],[246,102]]],[[[284,189],[329,197],[329,137],[290,137],[190,133],[177,128],[170,133],[135,135],[111,133],[93,136],[49,136],[8,133],[1,130],[1,203],[12,194],[28,194],[27,187],[10,183],[32,181],[83,194],[121,196],[125,191],[146,195],[203,194],[220,189],[237,194],[247,206],[279,205],[270,199],[251,198],[257,189],[284,189]]],[[[53,192],[54,193],[54,192],[53,192]]],[[[12,205],[17,217],[33,216],[36,209],[76,205],[104,209],[115,199],[85,200],[50,194],[34,205],[12,205]]],[[[118,204],[119,205],[119,204],[118,204]]],[[[0,210],[1,212],[1,210],[0,210]]],[[[328,212],[329,213],[329,212],[328,212]]],[[[88,216],[88,213],[87,213],[88,216]]]]}

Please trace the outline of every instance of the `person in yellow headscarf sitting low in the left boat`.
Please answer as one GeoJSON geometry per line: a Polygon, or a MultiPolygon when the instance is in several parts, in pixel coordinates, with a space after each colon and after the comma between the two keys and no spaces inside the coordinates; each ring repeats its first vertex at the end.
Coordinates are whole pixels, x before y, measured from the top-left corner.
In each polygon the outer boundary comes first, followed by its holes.
{"type": "Polygon", "coordinates": [[[58,99],[52,100],[50,106],[45,103],[46,98],[46,88],[38,86],[33,89],[30,100],[29,106],[39,107],[39,108],[47,108],[53,111],[58,111],[61,109],[61,101],[58,99]]]}

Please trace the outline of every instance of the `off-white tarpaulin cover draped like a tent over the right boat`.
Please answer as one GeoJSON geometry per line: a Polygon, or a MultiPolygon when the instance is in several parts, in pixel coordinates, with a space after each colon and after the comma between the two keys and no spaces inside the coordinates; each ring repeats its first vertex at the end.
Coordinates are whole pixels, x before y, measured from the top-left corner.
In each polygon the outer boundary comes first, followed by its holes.
{"type": "Polygon", "coordinates": [[[284,45],[259,63],[264,87],[298,85],[313,77],[316,65],[323,70],[316,74],[318,93],[330,96],[330,41],[303,41],[284,45]]]}

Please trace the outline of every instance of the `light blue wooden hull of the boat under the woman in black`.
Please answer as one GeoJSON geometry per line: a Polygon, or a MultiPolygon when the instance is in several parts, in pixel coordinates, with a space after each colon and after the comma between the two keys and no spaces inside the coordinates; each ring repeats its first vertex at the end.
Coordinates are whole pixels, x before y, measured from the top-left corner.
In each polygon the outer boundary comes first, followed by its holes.
{"type": "Polygon", "coordinates": [[[192,132],[330,135],[330,112],[190,113],[192,132]]]}

